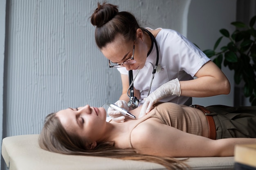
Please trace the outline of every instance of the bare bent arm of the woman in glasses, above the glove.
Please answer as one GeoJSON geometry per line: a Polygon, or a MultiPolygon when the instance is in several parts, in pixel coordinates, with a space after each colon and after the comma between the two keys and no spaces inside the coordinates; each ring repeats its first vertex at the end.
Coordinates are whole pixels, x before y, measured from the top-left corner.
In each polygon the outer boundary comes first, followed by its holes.
{"type": "Polygon", "coordinates": [[[212,61],[204,64],[195,76],[193,80],[180,81],[181,96],[210,97],[230,92],[229,80],[212,61]]]}

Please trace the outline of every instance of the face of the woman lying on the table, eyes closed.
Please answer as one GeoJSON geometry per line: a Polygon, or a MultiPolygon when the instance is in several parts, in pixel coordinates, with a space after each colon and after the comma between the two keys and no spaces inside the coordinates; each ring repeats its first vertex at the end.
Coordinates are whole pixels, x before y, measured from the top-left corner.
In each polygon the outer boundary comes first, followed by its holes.
{"type": "Polygon", "coordinates": [[[103,107],[85,105],[79,108],[68,108],[58,111],[56,116],[67,133],[75,133],[97,141],[104,134],[106,127],[106,111],[103,107]]]}

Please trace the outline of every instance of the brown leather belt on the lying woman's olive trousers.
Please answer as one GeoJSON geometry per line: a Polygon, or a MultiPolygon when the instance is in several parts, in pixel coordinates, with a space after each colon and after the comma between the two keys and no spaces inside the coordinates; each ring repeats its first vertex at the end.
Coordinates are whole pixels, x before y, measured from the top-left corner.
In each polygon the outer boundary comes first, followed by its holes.
{"type": "MultiPolygon", "coordinates": [[[[190,107],[195,107],[197,109],[200,109],[204,113],[211,113],[211,111],[207,110],[205,107],[200,106],[200,105],[190,105],[190,107]]],[[[209,126],[209,138],[216,140],[216,126],[215,126],[213,117],[210,115],[206,115],[206,119],[207,119],[208,126],[209,126]]]]}

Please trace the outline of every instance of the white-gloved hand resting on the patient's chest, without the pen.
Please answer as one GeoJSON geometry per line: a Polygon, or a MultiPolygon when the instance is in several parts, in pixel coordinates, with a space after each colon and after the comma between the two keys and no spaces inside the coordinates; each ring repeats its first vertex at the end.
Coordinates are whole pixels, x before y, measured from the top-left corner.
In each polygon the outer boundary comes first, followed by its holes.
{"type": "Polygon", "coordinates": [[[175,78],[167,83],[164,83],[160,87],[158,87],[154,92],[148,95],[148,97],[144,98],[144,103],[142,105],[141,111],[139,113],[139,118],[146,115],[150,110],[153,109],[153,105],[167,97],[167,96],[180,96],[181,89],[180,89],[180,82],[178,78],[175,78]]]}

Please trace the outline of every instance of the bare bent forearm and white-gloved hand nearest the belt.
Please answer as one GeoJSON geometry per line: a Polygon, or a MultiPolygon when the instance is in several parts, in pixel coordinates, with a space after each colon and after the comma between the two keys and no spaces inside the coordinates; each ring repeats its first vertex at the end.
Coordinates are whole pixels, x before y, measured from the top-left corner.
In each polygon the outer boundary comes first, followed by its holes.
{"type": "Polygon", "coordinates": [[[179,81],[177,78],[164,83],[144,98],[139,118],[153,109],[153,105],[171,95],[189,97],[209,97],[219,94],[229,94],[230,83],[225,74],[212,61],[207,62],[195,74],[193,80],[179,81]]]}

